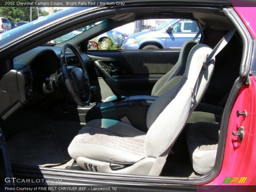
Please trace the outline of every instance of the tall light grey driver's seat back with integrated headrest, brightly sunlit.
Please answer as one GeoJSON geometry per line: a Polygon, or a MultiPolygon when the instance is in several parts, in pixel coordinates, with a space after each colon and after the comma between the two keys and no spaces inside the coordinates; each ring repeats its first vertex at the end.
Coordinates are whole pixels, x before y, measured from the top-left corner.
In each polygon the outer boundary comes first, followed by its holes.
{"type": "Polygon", "coordinates": [[[215,58],[203,69],[212,49],[195,45],[188,55],[185,73],[169,91],[158,97],[148,109],[145,139],[146,157],[167,157],[188,116],[202,99],[211,79],[215,58]]]}

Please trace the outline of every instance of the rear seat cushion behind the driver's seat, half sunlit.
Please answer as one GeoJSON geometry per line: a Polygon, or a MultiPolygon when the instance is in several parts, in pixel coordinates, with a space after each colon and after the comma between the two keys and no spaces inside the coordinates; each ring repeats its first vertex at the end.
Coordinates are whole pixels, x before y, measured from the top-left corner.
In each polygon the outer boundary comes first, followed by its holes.
{"type": "Polygon", "coordinates": [[[220,124],[198,122],[192,124],[186,133],[188,152],[193,169],[206,174],[215,164],[220,124]]]}

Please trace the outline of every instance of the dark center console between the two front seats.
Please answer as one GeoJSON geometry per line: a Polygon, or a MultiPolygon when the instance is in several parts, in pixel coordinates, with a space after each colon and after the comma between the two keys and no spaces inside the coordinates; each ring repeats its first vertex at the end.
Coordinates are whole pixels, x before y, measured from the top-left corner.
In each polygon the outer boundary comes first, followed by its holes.
{"type": "Polygon", "coordinates": [[[148,131],[146,117],[149,106],[157,96],[135,95],[108,102],[94,102],[87,107],[62,103],[51,111],[54,119],[72,120],[87,123],[93,119],[116,119],[127,117],[132,126],[148,131]]]}

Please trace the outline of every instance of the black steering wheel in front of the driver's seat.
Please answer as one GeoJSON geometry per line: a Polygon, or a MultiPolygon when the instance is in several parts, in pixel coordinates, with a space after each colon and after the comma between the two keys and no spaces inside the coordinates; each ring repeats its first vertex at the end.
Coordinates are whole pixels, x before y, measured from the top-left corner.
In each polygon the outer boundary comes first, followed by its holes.
{"type": "Polygon", "coordinates": [[[65,86],[78,106],[87,106],[91,100],[91,87],[84,60],[72,44],[64,44],[60,54],[60,64],[65,86]],[[66,50],[69,48],[76,55],[79,67],[67,66],[66,50]]]}

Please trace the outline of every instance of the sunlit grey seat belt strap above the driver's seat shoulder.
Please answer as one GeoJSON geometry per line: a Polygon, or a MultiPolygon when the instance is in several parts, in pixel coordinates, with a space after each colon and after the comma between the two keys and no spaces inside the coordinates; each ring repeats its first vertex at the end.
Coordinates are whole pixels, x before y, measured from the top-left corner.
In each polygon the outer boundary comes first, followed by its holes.
{"type": "Polygon", "coordinates": [[[232,28],[224,37],[222,37],[220,42],[213,48],[212,52],[207,57],[205,62],[206,65],[228,44],[235,32],[236,28],[232,28]]]}

